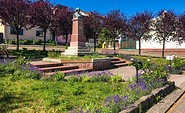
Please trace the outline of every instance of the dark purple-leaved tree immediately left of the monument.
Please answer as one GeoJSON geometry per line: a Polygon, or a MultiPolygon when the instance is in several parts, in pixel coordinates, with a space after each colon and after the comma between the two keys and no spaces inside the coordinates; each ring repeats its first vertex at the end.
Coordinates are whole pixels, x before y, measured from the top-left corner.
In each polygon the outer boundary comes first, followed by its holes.
{"type": "Polygon", "coordinates": [[[72,18],[73,11],[71,9],[61,5],[55,7],[50,30],[55,31],[57,36],[66,35],[66,44],[68,34],[72,33],[72,18]]]}

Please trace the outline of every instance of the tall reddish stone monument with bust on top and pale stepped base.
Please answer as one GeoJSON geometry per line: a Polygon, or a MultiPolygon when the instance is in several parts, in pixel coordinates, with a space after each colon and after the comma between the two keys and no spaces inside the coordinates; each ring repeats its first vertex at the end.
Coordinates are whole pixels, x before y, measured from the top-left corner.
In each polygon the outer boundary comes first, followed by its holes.
{"type": "Polygon", "coordinates": [[[76,8],[73,14],[73,26],[70,47],[65,50],[64,55],[85,55],[90,54],[90,50],[86,49],[86,37],[83,32],[83,17],[87,14],[76,8]]]}

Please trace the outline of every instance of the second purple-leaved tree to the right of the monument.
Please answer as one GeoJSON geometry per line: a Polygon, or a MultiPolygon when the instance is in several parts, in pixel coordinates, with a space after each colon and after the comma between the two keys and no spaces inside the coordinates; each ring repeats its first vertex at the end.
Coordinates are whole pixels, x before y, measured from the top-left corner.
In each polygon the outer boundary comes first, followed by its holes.
{"type": "Polygon", "coordinates": [[[110,32],[110,37],[113,38],[114,50],[116,48],[115,39],[118,35],[124,33],[127,29],[126,18],[120,10],[113,10],[107,14],[104,19],[105,28],[110,32]]]}

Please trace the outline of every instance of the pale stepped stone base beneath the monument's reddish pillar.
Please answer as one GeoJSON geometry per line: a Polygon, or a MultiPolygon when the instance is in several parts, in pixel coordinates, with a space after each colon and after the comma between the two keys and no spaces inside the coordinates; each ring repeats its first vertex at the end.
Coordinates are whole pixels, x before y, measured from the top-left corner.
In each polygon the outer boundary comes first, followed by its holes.
{"type": "Polygon", "coordinates": [[[87,55],[92,54],[91,50],[86,49],[85,47],[68,47],[65,52],[61,53],[61,55],[66,56],[78,56],[78,55],[87,55]]]}

